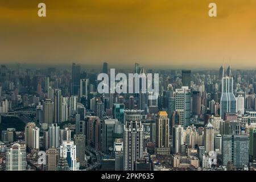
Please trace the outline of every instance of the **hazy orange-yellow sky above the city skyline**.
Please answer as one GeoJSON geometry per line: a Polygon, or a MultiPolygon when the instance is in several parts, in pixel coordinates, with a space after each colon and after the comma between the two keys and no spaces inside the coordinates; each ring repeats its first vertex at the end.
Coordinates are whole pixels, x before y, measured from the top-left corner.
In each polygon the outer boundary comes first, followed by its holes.
{"type": "Polygon", "coordinates": [[[0,63],[256,67],[254,0],[1,0],[0,13],[0,63]]]}

